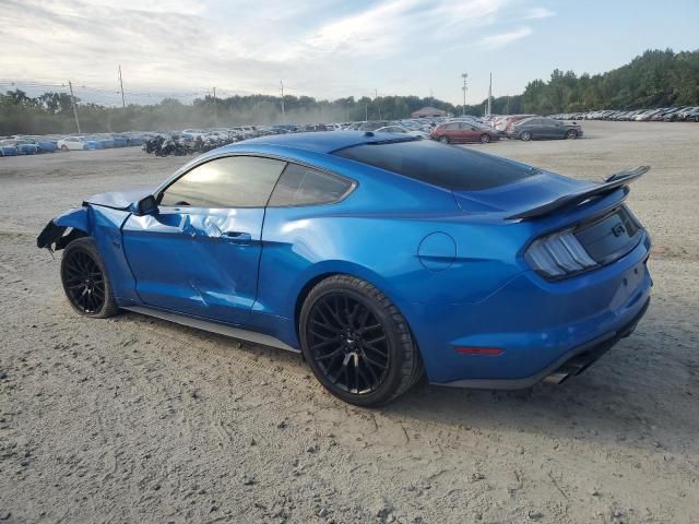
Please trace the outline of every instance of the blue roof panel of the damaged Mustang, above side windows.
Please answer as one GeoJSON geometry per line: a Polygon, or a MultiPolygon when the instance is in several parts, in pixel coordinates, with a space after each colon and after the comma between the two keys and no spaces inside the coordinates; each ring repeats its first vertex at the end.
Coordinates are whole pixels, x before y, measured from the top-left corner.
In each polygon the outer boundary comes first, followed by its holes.
{"type": "Polygon", "coordinates": [[[330,154],[345,147],[355,145],[401,142],[406,140],[419,140],[410,136],[396,136],[393,133],[382,133],[372,131],[319,131],[310,133],[275,134],[260,136],[259,139],[246,140],[238,144],[222,147],[218,151],[237,151],[249,146],[282,146],[294,147],[313,153],[330,154]]]}

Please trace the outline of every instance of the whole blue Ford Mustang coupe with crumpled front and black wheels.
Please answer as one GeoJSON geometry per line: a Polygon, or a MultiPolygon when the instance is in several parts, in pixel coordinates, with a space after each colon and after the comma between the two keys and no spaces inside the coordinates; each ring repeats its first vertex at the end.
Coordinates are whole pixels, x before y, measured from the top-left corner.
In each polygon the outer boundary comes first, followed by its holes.
{"type": "Polygon", "coordinates": [[[627,336],[650,239],[640,167],[587,182],[371,132],[214,150],[151,190],[54,218],[72,307],[133,310],[301,352],[340,398],[560,382],[627,336]]]}

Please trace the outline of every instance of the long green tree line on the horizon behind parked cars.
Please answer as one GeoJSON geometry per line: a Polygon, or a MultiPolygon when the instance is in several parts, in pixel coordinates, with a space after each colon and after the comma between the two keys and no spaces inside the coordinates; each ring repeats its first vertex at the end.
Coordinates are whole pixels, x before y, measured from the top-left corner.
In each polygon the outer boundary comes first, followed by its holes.
{"type": "MultiPolygon", "coordinates": [[[[417,96],[337,98],[318,100],[309,96],[269,95],[205,96],[191,104],[165,98],[159,104],[105,107],[79,99],[78,114],[85,133],[129,130],[168,130],[186,127],[232,127],[241,124],[319,123],[408,118],[425,106],[460,115],[483,115],[486,102],[454,106],[417,96]]],[[[674,52],[648,50],[631,62],[602,74],[554,70],[548,81],[534,80],[521,95],[491,99],[497,115],[635,109],[699,105],[699,50],[674,52]]],[[[37,97],[15,90],[0,94],[0,135],[75,132],[71,98],[67,93],[37,97]]]]}

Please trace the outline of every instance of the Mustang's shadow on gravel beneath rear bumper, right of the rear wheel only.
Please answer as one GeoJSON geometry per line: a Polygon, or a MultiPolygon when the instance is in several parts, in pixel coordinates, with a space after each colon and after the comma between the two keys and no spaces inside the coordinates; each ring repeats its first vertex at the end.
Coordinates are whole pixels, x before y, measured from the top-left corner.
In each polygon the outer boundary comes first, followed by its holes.
{"type": "Polygon", "coordinates": [[[678,453],[691,446],[699,453],[692,437],[699,433],[699,388],[656,389],[654,366],[627,361],[637,348],[627,344],[616,349],[618,355],[603,357],[596,369],[562,384],[493,391],[422,383],[382,410],[451,430],[525,432],[678,453]],[[618,371],[621,366],[624,373],[618,371]]]}

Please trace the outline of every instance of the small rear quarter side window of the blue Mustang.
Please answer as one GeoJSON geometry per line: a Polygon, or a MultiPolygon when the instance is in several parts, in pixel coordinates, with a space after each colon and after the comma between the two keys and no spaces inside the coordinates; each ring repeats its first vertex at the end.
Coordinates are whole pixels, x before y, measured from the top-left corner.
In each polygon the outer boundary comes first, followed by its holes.
{"type": "Polygon", "coordinates": [[[274,188],[271,206],[329,204],[342,199],[352,182],[311,167],[289,164],[274,188]]]}

